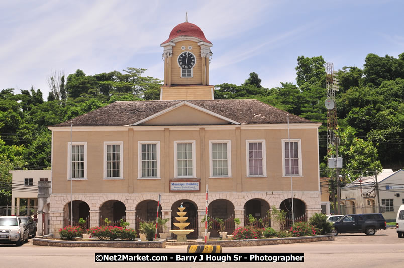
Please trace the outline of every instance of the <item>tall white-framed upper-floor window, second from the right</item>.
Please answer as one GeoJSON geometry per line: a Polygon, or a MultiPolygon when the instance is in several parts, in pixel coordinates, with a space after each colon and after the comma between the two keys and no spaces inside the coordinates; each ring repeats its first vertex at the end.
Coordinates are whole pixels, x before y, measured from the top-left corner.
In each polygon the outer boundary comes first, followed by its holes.
{"type": "Polygon", "coordinates": [[[265,140],[246,140],[247,177],[266,177],[265,140]]]}

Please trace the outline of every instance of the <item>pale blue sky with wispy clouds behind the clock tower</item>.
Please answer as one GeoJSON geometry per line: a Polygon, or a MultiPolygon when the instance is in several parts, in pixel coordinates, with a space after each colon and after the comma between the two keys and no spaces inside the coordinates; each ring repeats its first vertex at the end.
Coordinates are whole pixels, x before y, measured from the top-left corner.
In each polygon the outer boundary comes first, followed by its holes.
{"type": "Polygon", "coordinates": [[[297,57],[362,68],[368,53],[404,52],[404,1],[0,0],[0,90],[41,89],[52,72],[145,68],[163,79],[163,48],[185,21],[212,42],[210,84],[295,83],[297,57]]]}

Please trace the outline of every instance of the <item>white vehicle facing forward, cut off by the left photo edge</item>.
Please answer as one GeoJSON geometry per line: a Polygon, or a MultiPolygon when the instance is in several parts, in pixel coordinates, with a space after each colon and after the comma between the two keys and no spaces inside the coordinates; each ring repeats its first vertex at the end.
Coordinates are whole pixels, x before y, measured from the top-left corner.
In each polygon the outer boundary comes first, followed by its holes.
{"type": "Polygon", "coordinates": [[[21,246],[28,241],[28,228],[16,216],[0,217],[0,243],[21,246]]]}

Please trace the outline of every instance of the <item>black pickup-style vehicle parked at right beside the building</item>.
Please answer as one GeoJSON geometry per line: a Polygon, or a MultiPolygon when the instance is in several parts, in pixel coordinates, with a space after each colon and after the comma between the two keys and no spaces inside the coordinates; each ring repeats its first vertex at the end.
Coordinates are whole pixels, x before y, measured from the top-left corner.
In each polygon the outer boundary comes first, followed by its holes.
{"type": "Polygon", "coordinates": [[[386,229],[386,221],[380,213],[350,214],[334,222],[334,234],[365,233],[374,235],[377,230],[386,229]]]}

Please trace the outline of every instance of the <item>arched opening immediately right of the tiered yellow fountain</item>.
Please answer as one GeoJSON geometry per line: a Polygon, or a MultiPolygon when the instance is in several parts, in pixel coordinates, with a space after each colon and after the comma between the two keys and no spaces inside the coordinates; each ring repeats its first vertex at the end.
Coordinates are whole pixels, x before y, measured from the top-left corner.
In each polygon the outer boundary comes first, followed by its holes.
{"type": "Polygon", "coordinates": [[[222,219],[225,232],[231,234],[234,232],[234,205],[226,199],[216,199],[208,205],[208,216],[212,219],[212,228],[210,237],[219,237],[220,224],[217,218],[222,219]]]}

